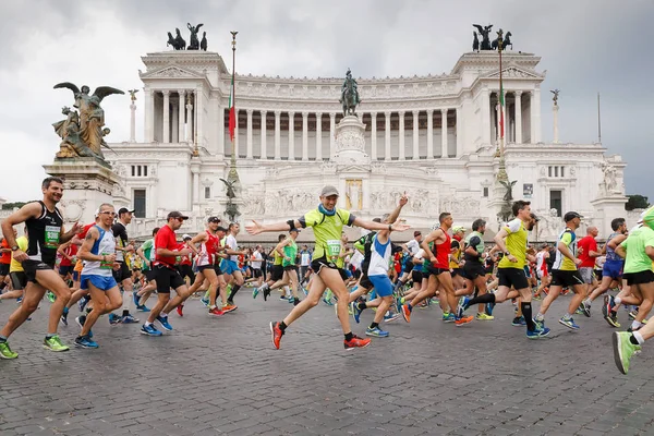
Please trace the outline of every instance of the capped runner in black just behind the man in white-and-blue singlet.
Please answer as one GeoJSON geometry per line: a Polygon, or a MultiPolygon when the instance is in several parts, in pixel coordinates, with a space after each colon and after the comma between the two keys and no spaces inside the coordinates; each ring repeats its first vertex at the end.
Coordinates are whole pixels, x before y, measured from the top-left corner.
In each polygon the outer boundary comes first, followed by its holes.
{"type": "Polygon", "coordinates": [[[134,209],[121,207],[118,209],[118,220],[113,226],[111,226],[111,231],[116,238],[116,262],[119,265],[119,268],[113,270],[113,278],[123,290],[122,315],[119,316],[116,314],[109,314],[109,324],[111,325],[116,325],[118,323],[138,323],[138,319],[130,314],[130,305],[134,299],[132,295],[134,292],[134,283],[132,282],[132,268],[128,254],[134,252],[134,245],[130,243],[126,227],[130,225],[130,222],[132,222],[133,213],[134,209]]]}

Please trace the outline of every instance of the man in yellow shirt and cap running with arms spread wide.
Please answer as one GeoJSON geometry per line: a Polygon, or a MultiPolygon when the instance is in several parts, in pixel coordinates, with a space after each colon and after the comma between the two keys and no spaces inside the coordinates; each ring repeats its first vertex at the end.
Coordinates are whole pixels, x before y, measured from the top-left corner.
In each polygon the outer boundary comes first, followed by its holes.
{"type": "MultiPolygon", "coordinates": [[[[338,190],[328,185],[323,187],[320,192],[320,204],[318,207],[307,211],[299,219],[290,219],[286,222],[274,225],[262,225],[252,221],[252,225],[246,227],[250,234],[283,230],[288,231],[307,227],[313,228],[315,234],[315,251],[314,259],[312,262],[312,269],[315,272],[315,277],[313,278],[307,298],[294,306],[283,320],[270,323],[272,343],[277,349],[280,347],[281,337],[287,327],[306,311],[317,305],[326,288],[329,288],[340,301],[348,301],[348,290],[335,263],[341,249],[340,235],[343,226],[359,226],[368,230],[389,231],[404,231],[410,228],[402,223],[383,225],[356,218],[354,215],[350,214],[349,210],[336,207],[338,196],[338,190]]],[[[370,339],[362,339],[352,334],[348,315],[348,304],[339,304],[338,317],[344,334],[343,344],[346,350],[367,347],[370,344],[370,339]]]]}

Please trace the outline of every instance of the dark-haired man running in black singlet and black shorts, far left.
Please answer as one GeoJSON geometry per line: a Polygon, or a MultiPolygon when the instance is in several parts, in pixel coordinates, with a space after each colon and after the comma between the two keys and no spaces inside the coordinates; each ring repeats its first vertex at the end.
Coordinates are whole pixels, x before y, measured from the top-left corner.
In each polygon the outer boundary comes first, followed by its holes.
{"type": "Polygon", "coordinates": [[[59,178],[49,177],[41,183],[43,201],[31,202],[11,214],[2,221],[2,233],[9,243],[13,256],[23,264],[27,286],[23,304],[16,308],[9,320],[0,330],[0,356],[3,359],[15,359],[19,356],[9,348],[7,342],[12,332],[15,331],[36,311],[38,303],[49,289],[57,295],[57,300],[50,306],[48,320],[48,332],[44,346],[51,351],[68,351],[57,335],[59,318],[63,307],[71,298],[71,291],[65,282],[55,271],[57,249],[60,243],[70,241],[81,230],[77,222],[71,230],[64,232],[63,218],[57,208],[57,203],[63,195],[63,181],[59,178]],[[13,226],[25,222],[27,226],[27,251],[23,252],[16,244],[13,226]]]}

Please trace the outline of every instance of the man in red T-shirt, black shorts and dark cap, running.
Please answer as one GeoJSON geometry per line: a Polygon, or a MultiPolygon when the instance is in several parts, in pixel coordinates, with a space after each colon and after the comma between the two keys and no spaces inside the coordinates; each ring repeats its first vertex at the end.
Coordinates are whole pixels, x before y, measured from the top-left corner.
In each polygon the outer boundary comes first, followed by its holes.
{"type": "Polygon", "coordinates": [[[155,280],[157,280],[157,304],[152,308],[147,320],[141,328],[143,335],[161,336],[154,322],[157,320],[165,330],[172,330],[168,323],[168,314],[180,303],[184,302],[191,295],[189,287],[180,271],[174,267],[177,256],[185,256],[195,251],[195,249],[177,242],[174,231],[182,227],[182,223],[189,219],[187,216],[174,210],[168,214],[168,222],[161,227],[155,238],[155,280]],[[174,289],[177,296],[170,299],[170,289],[174,289]]]}

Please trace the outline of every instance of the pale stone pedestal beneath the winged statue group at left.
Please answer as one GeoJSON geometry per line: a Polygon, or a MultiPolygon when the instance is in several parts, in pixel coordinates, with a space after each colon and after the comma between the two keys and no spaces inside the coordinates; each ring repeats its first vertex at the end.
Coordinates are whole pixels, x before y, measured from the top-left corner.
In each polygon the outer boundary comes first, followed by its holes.
{"type": "Polygon", "coordinates": [[[59,207],[66,222],[93,222],[102,203],[113,204],[114,186],[120,186],[120,178],[111,167],[93,157],[55,159],[51,165],[44,165],[44,169],[63,179],[64,192],[59,207]]]}

